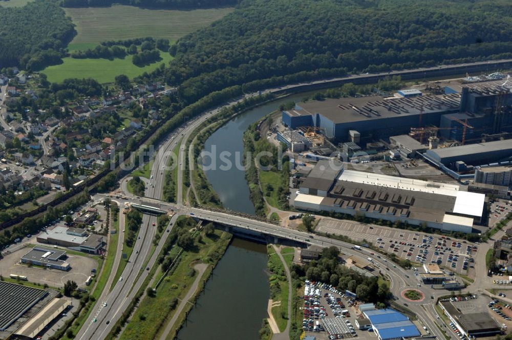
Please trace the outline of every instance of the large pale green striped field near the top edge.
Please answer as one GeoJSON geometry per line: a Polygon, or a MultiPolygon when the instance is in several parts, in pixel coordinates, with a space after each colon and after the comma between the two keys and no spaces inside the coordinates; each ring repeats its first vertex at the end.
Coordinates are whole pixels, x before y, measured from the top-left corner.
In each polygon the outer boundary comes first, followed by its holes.
{"type": "Polygon", "coordinates": [[[146,36],[176,41],[185,34],[208,26],[232,10],[232,8],[218,8],[174,11],[120,5],[67,8],[66,14],[73,20],[78,33],[71,41],[69,49],[86,49],[98,45],[101,41],[146,36]]]}

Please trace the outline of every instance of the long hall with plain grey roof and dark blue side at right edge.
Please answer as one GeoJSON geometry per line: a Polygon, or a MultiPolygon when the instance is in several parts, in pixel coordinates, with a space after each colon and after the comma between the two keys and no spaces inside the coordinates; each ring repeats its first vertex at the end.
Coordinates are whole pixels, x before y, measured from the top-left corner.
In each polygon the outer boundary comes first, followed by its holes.
{"type": "Polygon", "coordinates": [[[427,150],[425,157],[448,167],[453,166],[457,161],[470,165],[505,161],[512,158],[512,140],[437,148],[427,150]]]}

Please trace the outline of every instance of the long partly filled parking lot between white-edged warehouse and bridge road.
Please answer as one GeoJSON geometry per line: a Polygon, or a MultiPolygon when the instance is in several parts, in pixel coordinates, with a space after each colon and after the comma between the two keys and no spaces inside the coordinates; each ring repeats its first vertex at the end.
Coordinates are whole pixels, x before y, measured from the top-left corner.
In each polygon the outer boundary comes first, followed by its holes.
{"type": "Polygon", "coordinates": [[[323,218],[316,231],[346,235],[356,241],[366,240],[402,259],[416,263],[434,262],[460,274],[467,274],[474,267],[472,261],[478,251],[476,244],[465,240],[355,221],[323,218]]]}

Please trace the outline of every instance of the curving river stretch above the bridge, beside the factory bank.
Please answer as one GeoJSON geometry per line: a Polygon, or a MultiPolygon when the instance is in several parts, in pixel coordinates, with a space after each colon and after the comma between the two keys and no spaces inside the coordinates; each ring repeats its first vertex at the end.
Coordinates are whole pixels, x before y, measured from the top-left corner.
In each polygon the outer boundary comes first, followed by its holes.
{"type": "Polygon", "coordinates": [[[282,103],[301,101],[311,93],[313,92],[291,95],[249,110],[227,122],[206,140],[204,151],[213,155],[211,163],[207,163],[207,165],[216,164],[217,166],[215,168],[212,166],[212,169],[206,168],[204,172],[225,208],[254,215],[254,205],[249,199],[249,186],[245,180],[245,171],[240,166],[236,166],[237,163],[243,162],[245,130],[250,124],[277,110],[282,103]],[[220,169],[220,165],[225,163],[221,160],[221,152],[227,152],[230,155],[228,159],[233,166],[220,169]],[[237,160],[236,155],[239,155],[240,161],[237,160]]]}

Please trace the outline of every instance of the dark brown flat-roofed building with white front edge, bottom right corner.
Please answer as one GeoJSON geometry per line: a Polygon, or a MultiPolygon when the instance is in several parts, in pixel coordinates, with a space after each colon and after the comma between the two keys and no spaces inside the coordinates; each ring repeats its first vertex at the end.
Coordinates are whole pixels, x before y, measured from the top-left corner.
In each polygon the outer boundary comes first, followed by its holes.
{"type": "Polygon", "coordinates": [[[451,301],[441,301],[439,305],[461,334],[468,338],[501,333],[500,325],[487,311],[464,314],[451,301]]]}

